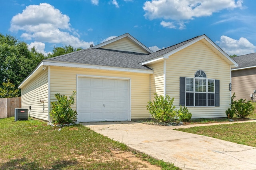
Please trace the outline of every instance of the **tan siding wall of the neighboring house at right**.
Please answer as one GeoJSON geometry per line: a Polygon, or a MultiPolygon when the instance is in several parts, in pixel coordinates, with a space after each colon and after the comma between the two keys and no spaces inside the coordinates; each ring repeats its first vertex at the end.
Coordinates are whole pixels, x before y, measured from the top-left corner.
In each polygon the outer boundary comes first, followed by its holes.
{"type": "MultiPolygon", "coordinates": [[[[232,71],[232,94],[235,93],[235,100],[252,100],[250,94],[256,89],[256,68],[232,71]]],[[[255,101],[255,99],[253,99],[255,101]]]]}

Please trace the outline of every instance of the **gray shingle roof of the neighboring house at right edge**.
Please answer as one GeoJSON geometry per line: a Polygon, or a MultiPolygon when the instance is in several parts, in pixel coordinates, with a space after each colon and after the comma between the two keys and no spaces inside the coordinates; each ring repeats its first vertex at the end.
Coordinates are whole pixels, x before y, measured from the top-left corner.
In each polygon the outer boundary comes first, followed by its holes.
{"type": "Polygon", "coordinates": [[[232,59],[234,59],[238,63],[238,67],[236,67],[235,69],[256,66],[256,53],[240,55],[237,57],[233,57],[232,59]]]}

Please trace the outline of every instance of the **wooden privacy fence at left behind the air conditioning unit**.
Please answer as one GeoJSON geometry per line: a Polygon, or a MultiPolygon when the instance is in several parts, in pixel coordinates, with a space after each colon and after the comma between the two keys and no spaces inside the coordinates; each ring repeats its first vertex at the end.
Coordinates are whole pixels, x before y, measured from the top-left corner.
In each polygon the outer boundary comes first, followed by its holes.
{"type": "Polygon", "coordinates": [[[15,108],[21,108],[21,97],[0,99],[0,119],[14,116],[15,108]]]}

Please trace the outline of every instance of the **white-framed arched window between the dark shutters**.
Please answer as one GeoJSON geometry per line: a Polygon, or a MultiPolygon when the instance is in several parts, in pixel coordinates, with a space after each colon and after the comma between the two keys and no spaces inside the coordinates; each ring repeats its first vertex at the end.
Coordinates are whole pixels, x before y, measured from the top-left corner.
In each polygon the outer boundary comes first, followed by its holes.
{"type": "Polygon", "coordinates": [[[202,70],[186,77],[186,106],[215,106],[215,80],[208,79],[202,70]]]}

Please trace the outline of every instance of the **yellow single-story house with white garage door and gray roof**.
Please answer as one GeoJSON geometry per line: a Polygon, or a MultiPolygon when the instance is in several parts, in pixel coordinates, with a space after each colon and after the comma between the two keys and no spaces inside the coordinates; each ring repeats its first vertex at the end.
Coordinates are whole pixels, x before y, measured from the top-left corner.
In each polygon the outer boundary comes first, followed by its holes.
{"type": "Polygon", "coordinates": [[[231,68],[238,64],[202,35],[152,52],[130,34],[44,59],[20,84],[22,108],[50,120],[54,94],[77,91],[78,121],[147,119],[149,100],[174,97],[192,118],[226,117],[231,68]]]}

